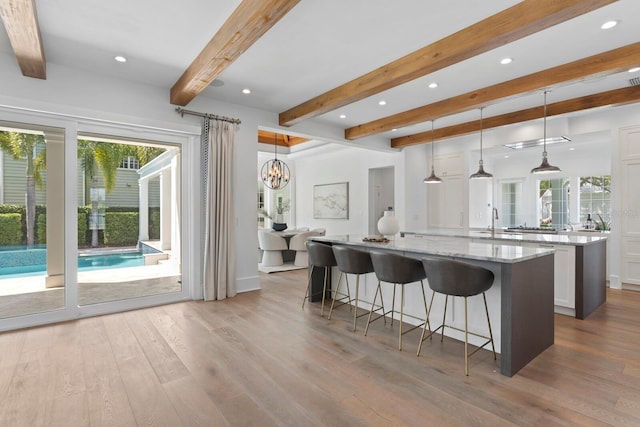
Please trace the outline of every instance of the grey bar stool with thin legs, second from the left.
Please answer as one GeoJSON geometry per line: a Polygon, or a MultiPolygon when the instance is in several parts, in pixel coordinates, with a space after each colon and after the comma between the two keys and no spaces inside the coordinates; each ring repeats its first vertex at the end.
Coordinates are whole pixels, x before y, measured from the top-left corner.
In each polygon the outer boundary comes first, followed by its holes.
{"type": "MultiPolygon", "coordinates": [[[[356,321],[358,317],[364,316],[367,313],[358,314],[358,301],[359,301],[359,289],[360,289],[360,275],[366,273],[373,272],[373,264],[371,263],[371,256],[369,256],[369,252],[362,251],[359,249],[354,249],[349,246],[344,245],[335,245],[333,246],[333,255],[336,257],[336,262],[338,263],[338,269],[340,270],[340,277],[338,278],[338,284],[336,285],[336,290],[340,288],[340,282],[342,281],[342,276],[344,276],[345,281],[347,283],[347,290],[349,289],[349,276],[348,274],[356,275],[356,296],[351,299],[350,291],[348,297],[343,296],[342,298],[337,298],[338,292],[334,292],[333,301],[331,302],[331,309],[329,310],[329,319],[331,319],[331,313],[333,312],[333,306],[336,303],[336,300],[342,304],[350,304],[354,303],[354,311],[353,311],[353,331],[356,331],[356,321]],[[348,298],[348,300],[346,300],[348,298]]],[[[343,294],[344,295],[344,294],[343,294]]],[[[383,308],[384,311],[384,308],[383,308]]]]}

